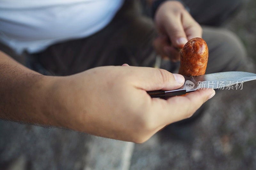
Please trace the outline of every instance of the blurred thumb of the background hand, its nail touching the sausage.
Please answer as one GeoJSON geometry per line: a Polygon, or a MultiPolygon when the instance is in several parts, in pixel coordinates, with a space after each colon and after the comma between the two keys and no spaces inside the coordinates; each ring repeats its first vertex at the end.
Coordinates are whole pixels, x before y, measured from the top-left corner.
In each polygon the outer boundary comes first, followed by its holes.
{"type": "Polygon", "coordinates": [[[166,22],[165,29],[174,47],[182,48],[188,42],[181,23],[181,14],[172,18],[172,22],[166,22]]]}

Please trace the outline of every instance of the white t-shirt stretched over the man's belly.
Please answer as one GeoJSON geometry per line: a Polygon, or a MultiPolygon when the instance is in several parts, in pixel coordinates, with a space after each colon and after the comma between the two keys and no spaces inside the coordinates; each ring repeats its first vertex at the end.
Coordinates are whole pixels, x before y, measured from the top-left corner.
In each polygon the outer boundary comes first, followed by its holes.
{"type": "Polygon", "coordinates": [[[105,27],[124,0],[0,0],[0,41],[17,53],[39,52],[105,27]]]}

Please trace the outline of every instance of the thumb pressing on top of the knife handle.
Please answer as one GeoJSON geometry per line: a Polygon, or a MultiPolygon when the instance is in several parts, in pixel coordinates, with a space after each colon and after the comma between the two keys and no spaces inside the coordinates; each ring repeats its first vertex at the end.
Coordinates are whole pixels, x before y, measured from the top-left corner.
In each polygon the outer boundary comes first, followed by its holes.
{"type": "Polygon", "coordinates": [[[185,81],[182,75],[172,74],[164,69],[132,66],[129,68],[129,81],[135,87],[146,91],[178,89],[185,81]]]}

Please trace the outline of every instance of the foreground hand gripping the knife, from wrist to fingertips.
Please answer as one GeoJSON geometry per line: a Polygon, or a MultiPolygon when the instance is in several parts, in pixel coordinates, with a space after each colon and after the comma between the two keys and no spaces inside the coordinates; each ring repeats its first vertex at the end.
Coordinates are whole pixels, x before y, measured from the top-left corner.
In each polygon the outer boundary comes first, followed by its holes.
{"type": "Polygon", "coordinates": [[[184,78],[150,67],[105,66],[58,77],[50,108],[58,126],[76,131],[142,143],[167,124],[188,118],[215,92],[200,89],[167,100],[146,91],[173,90],[184,78]]]}

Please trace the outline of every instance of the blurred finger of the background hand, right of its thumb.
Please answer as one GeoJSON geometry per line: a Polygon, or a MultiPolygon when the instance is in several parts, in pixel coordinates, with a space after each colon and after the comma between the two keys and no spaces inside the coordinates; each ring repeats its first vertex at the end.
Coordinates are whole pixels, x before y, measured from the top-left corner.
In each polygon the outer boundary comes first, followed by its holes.
{"type": "Polygon", "coordinates": [[[196,37],[202,37],[202,27],[187,11],[182,13],[182,25],[188,40],[196,37]]]}

